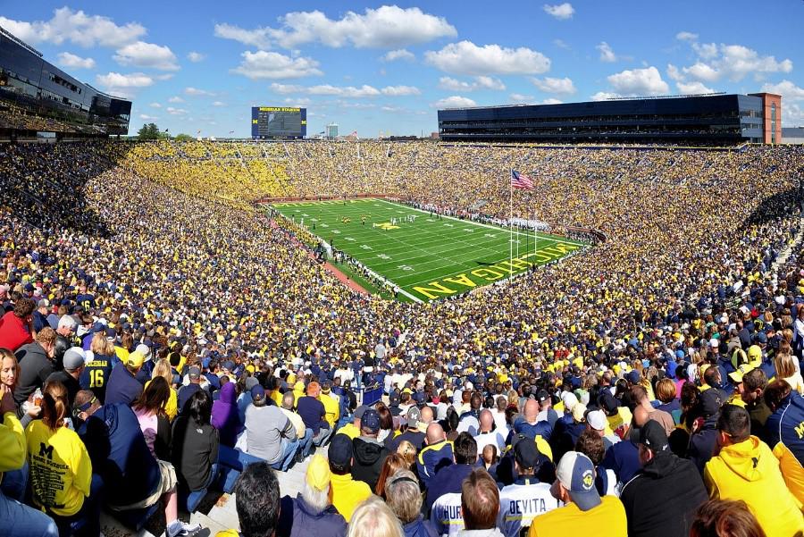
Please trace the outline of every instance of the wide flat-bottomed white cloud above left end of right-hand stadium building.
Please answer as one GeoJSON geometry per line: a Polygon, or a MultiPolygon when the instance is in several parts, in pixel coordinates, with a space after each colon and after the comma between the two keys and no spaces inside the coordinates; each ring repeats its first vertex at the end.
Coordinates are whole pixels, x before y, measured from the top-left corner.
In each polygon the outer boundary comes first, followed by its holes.
{"type": "Polygon", "coordinates": [[[461,41],[424,56],[427,63],[452,74],[541,74],[550,69],[547,56],[524,46],[514,49],[461,41]]]}

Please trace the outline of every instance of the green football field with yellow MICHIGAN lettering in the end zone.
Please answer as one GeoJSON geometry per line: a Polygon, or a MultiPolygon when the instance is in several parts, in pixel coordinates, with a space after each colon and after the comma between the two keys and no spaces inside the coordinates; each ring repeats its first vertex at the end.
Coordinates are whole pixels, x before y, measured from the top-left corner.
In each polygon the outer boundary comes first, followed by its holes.
{"type": "Polygon", "coordinates": [[[272,207],[415,302],[489,285],[588,246],[533,231],[515,231],[512,239],[507,228],[439,217],[384,199],[304,201],[272,207]]]}

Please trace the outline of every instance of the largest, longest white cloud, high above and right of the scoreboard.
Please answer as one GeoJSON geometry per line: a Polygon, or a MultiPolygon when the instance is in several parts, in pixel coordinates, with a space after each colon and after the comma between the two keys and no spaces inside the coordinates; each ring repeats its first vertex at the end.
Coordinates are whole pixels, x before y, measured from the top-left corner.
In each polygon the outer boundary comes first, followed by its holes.
{"type": "Polygon", "coordinates": [[[347,12],[339,20],[330,19],[320,11],[293,12],[282,16],[280,21],[278,29],[217,24],[215,36],[259,48],[268,48],[273,43],[296,48],[314,42],[332,47],[393,48],[457,35],[455,27],[443,17],[423,13],[418,7],[402,9],[396,5],[366,8],[363,14],[347,12]]]}

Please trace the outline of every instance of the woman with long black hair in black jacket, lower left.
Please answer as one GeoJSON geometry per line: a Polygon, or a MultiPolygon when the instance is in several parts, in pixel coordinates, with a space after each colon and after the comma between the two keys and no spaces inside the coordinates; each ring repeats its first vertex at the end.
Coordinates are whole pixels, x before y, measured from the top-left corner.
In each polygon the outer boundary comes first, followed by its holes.
{"type": "Polygon", "coordinates": [[[210,423],[212,407],[206,390],[198,390],[188,401],[187,415],[173,422],[171,461],[180,485],[190,492],[208,488],[217,477],[220,432],[210,423]]]}

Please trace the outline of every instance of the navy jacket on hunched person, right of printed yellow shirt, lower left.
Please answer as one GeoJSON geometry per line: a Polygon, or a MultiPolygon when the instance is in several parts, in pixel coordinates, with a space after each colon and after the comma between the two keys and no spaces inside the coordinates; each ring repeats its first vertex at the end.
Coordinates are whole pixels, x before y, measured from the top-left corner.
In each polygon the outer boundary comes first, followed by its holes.
{"type": "Polygon", "coordinates": [[[105,501],[124,507],[154,493],[162,480],[159,464],[139,428],[137,416],[126,405],[105,405],[81,425],[79,436],[87,446],[92,472],[104,480],[105,501]]]}

